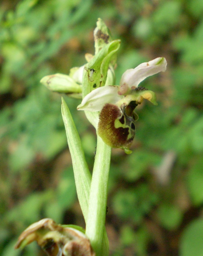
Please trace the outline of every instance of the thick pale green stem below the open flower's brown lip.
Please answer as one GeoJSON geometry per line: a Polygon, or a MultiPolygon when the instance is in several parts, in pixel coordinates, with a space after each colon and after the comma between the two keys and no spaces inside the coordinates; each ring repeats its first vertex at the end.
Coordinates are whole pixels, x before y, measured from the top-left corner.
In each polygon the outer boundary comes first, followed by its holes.
{"type": "Polygon", "coordinates": [[[96,256],[107,256],[103,251],[103,244],[107,236],[104,235],[107,186],[111,159],[111,148],[97,136],[97,149],[90,187],[88,217],[86,222],[86,235],[96,252],[96,256]],[[104,237],[104,240],[103,240],[104,237]]]}

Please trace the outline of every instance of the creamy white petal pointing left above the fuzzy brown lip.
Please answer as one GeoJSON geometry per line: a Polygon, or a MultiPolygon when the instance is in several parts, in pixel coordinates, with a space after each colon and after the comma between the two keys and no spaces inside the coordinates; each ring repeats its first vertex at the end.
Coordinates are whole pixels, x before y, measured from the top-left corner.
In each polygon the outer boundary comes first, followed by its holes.
{"type": "Polygon", "coordinates": [[[100,111],[106,103],[115,104],[123,96],[118,95],[118,86],[103,86],[86,95],[78,110],[100,111]]]}

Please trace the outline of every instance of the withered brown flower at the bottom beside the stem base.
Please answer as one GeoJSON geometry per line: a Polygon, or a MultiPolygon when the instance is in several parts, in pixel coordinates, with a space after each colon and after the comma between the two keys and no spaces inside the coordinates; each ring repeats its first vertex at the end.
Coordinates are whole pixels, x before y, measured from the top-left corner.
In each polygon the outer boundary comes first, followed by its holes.
{"type": "Polygon", "coordinates": [[[49,256],[95,256],[83,232],[57,225],[52,219],[42,219],[26,228],[15,249],[24,248],[33,241],[37,241],[49,256]]]}

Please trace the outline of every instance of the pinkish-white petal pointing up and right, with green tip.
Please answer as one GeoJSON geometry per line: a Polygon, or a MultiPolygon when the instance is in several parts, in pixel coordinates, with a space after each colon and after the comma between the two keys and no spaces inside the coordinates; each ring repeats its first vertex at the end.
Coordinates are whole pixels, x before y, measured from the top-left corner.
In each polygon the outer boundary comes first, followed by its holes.
{"type": "Polygon", "coordinates": [[[128,87],[137,87],[140,82],[150,75],[154,75],[160,71],[166,70],[166,59],[159,57],[149,62],[144,62],[134,69],[128,69],[123,73],[120,86],[127,84],[128,87]]]}

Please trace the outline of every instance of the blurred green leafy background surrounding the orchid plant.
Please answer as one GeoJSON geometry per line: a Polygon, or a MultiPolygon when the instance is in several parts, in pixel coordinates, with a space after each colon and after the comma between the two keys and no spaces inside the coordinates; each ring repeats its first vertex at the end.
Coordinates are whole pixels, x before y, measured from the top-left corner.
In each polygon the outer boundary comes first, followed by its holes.
{"type": "MultiPolygon", "coordinates": [[[[133,153],[112,150],[110,255],[203,255],[203,1],[2,0],[0,8],[0,254],[42,218],[84,225],[61,117],[61,95],[39,81],[94,53],[97,18],[121,39],[122,73],[164,56],[167,71],[142,82],[133,153]]],[[[96,136],[79,100],[66,97],[92,168],[96,136]]]]}

